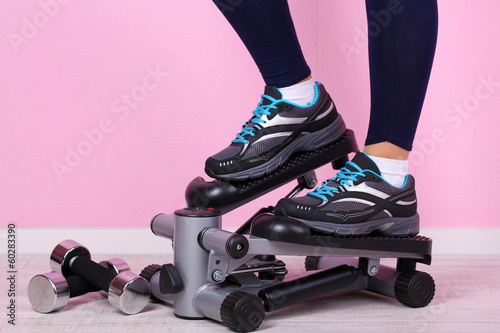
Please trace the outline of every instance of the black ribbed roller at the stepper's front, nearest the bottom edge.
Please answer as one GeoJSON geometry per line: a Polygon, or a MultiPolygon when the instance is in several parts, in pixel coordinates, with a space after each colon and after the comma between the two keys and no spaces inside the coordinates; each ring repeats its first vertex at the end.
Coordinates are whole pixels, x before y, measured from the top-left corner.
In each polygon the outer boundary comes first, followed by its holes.
{"type": "Polygon", "coordinates": [[[264,302],[252,294],[235,291],[220,308],[222,322],[236,332],[255,331],[264,320],[264,302]]]}

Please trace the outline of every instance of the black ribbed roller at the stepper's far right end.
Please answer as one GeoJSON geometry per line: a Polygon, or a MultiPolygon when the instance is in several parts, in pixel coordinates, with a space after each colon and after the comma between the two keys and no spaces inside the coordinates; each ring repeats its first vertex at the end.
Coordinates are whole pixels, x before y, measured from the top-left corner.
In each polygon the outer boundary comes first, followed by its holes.
{"type": "Polygon", "coordinates": [[[419,271],[401,273],[394,284],[396,299],[412,308],[428,305],[435,292],[436,285],[432,277],[419,271]]]}

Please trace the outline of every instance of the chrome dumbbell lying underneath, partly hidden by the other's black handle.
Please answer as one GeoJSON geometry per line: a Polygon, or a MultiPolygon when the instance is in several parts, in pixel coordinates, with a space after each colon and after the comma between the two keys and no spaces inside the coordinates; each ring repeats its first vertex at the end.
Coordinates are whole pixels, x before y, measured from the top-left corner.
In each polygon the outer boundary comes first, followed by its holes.
{"type": "MultiPolygon", "coordinates": [[[[88,252],[82,252],[81,255],[87,254],[90,256],[88,252]]],[[[111,270],[116,275],[130,270],[127,263],[119,258],[101,261],[99,265],[111,270]]],[[[99,291],[103,296],[107,296],[106,292],[89,284],[80,276],[64,276],[59,272],[52,271],[35,275],[31,279],[28,285],[28,298],[35,310],[49,313],[65,307],[70,298],[93,291],[99,291]]]]}

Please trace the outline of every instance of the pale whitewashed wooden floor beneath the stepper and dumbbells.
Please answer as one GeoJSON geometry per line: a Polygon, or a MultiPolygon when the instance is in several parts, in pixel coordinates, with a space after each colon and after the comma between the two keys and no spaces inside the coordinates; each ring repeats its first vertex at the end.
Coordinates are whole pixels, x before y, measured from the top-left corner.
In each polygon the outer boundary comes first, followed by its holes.
{"type": "MultiPolygon", "coordinates": [[[[116,257],[113,256],[113,257],[116,257]]],[[[95,256],[99,261],[106,256],[95,256]]],[[[134,272],[164,264],[170,256],[122,256],[134,272]]],[[[302,270],[303,258],[280,257],[291,271],[302,270]]],[[[7,258],[2,256],[2,262],[7,258]]],[[[390,264],[391,262],[382,262],[390,264]]],[[[4,266],[5,267],[5,266],[4,266]]],[[[425,308],[412,309],[367,292],[322,297],[266,313],[260,332],[500,332],[500,257],[435,256],[419,266],[436,281],[436,296],[425,308]]],[[[50,271],[48,256],[17,258],[16,326],[7,324],[7,284],[2,278],[1,332],[230,332],[210,320],[181,320],[172,308],[150,303],[137,315],[123,315],[97,293],[70,299],[62,310],[40,314],[30,306],[31,277],[50,271]],[[5,286],[5,287],[4,287],[5,286]]]]}

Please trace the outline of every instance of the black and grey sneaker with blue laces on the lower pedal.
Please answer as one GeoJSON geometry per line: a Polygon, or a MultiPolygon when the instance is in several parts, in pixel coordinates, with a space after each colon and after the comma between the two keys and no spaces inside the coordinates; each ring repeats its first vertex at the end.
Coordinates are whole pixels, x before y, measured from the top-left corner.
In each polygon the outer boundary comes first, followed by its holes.
{"type": "Polygon", "coordinates": [[[401,187],[380,176],[365,153],[357,153],[337,176],[313,192],[281,199],[276,214],[297,218],[311,229],[335,235],[413,236],[419,232],[415,179],[401,187]]]}

